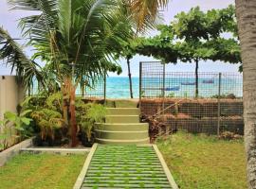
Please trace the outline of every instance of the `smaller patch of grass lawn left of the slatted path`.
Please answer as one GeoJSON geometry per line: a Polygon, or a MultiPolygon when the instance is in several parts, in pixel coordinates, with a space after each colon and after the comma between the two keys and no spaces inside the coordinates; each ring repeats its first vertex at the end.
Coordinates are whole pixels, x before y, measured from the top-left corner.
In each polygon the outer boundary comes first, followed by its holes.
{"type": "Polygon", "coordinates": [[[1,189],[71,189],[84,155],[20,154],[0,167],[1,189]]]}

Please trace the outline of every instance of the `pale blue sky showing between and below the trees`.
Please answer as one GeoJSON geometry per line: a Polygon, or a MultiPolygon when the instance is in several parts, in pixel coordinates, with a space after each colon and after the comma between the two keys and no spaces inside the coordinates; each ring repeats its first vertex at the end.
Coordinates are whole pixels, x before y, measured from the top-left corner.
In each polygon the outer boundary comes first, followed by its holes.
{"type": "MultiPolygon", "coordinates": [[[[234,4],[234,0],[171,0],[168,8],[163,11],[164,24],[169,24],[173,19],[174,15],[180,11],[189,11],[193,7],[199,6],[202,10],[208,9],[224,9],[230,4],[234,4]]],[[[13,38],[20,38],[20,30],[17,28],[18,19],[29,15],[29,12],[23,10],[9,10],[7,0],[0,0],[0,26],[4,26],[13,38]]],[[[155,31],[151,31],[149,35],[155,35],[155,31]]],[[[31,49],[26,49],[28,56],[32,55],[31,49]]],[[[131,60],[132,75],[138,76],[138,62],[154,60],[153,58],[136,56],[131,60]]],[[[2,62],[1,62],[2,63],[2,62]]],[[[127,76],[127,68],[125,60],[120,60],[122,67],[121,76],[127,76]]],[[[199,71],[200,72],[237,72],[238,66],[236,64],[223,63],[220,61],[200,61],[199,71]]],[[[193,72],[193,63],[177,63],[176,65],[169,64],[167,66],[169,71],[179,72],[193,72]]],[[[0,66],[0,75],[9,75],[9,69],[5,66],[0,66]]],[[[116,76],[110,74],[110,76],[116,76]]]]}

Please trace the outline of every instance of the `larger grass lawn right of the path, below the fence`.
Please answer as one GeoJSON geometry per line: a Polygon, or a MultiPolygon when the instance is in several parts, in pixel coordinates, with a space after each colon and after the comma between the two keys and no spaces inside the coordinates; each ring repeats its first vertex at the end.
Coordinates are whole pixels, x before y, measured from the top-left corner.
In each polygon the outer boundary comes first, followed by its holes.
{"type": "Polygon", "coordinates": [[[243,141],[177,133],[157,146],[182,189],[244,189],[246,157],[243,141]]]}

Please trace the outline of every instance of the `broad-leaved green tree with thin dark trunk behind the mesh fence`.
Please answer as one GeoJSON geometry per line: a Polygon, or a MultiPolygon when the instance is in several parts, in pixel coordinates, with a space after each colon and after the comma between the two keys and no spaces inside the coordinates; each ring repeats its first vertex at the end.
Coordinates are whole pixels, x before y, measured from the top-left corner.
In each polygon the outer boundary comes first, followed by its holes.
{"type": "Polygon", "coordinates": [[[166,63],[195,62],[195,96],[198,95],[200,60],[241,63],[233,6],[207,12],[197,7],[188,13],[181,12],[170,26],[158,26],[158,30],[159,35],[138,39],[132,49],[166,63]],[[231,37],[223,37],[225,34],[231,37]]]}

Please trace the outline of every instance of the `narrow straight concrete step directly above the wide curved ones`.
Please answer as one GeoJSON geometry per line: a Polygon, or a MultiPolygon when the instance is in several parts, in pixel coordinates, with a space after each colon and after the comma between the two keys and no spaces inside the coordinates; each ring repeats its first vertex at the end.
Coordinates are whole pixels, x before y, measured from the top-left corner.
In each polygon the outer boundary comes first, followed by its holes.
{"type": "Polygon", "coordinates": [[[139,115],[106,115],[106,123],[139,123],[139,115]]]}

